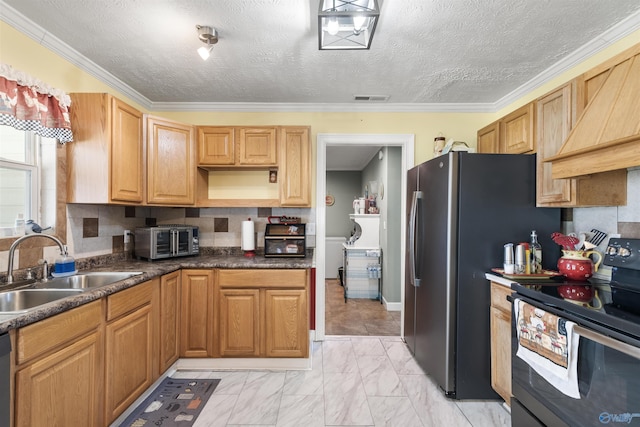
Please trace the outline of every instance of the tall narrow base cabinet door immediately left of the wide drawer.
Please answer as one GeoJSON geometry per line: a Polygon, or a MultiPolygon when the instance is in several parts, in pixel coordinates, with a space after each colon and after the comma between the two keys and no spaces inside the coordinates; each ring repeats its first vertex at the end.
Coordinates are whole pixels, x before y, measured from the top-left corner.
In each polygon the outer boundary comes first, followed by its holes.
{"type": "Polygon", "coordinates": [[[180,308],[180,356],[213,355],[213,272],[183,270],[180,308]]]}

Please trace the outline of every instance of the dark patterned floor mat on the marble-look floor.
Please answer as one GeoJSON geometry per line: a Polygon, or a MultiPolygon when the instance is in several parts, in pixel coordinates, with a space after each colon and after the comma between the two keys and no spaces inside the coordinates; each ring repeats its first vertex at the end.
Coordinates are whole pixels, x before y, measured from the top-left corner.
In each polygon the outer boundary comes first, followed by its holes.
{"type": "Polygon", "coordinates": [[[165,378],[120,427],[193,425],[219,379],[165,378]]]}

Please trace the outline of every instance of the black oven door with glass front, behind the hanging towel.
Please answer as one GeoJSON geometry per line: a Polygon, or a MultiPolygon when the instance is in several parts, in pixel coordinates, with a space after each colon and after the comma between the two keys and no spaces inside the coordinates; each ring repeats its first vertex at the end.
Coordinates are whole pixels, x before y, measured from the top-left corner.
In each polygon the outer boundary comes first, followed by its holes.
{"type": "Polygon", "coordinates": [[[528,298],[516,297],[576,323],[580,335],[577,373],[580,399],[558,391],[516,356],[518,339],[512,320],[512,393],[524,411],[512,413],[512,426],[640,426],[640,341],[600,324],[528,298]]]}

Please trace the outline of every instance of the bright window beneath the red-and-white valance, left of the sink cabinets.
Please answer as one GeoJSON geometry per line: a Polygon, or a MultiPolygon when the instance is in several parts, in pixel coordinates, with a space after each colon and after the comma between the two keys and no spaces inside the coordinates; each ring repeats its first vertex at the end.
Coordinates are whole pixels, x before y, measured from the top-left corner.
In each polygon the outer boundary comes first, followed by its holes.
{"type": "Polygon", "coordinates": [[[17,218],[55,226],[56,143],[0,126],[0,237],[20,234],[17,218]]]}

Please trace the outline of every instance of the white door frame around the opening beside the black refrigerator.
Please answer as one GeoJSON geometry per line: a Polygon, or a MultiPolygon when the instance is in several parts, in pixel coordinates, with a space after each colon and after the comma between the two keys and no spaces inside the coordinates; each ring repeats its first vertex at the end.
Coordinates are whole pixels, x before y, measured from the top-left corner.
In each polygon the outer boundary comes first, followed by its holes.
{"type": "MultiPolygon", "coordinates": [[[[325,336],[326,323],[326,295],[325,295],[325,239],[326,239],[326,152],[327,146],[382,146],[401,148],[401,179],[400,179],[400,205],[401,214],[399,218],[400,229],[405,229],[406,217],[406,172],[414,165],[414,135],[412,134],[318,134],[317,136],[317,168],[316,168],[316,330],[315,340],[322,340],[325,336]]],[[[397,220],[397,218],[394,218],[397,220]]],[[[383,219],[384,221],[384,219],[383,219]]],[[[405,236],[399,233],[399,247],[404,248],[405,236]]],[[[400,251],[404,252],[404,251],[400,251]]],[[[400,257],[400,277],[404,277],[404,256],[400,257]]],[[[400,308],[404,301],[404,289],[400,286],[400,308]]],[[[378,302],[379,303],[379,302],[378,302]]],[[[396,302],[397,303],[397,302],[396,302]]],[[[404,311],[401,311],[401,322],[403,324],[404,311]]],[[[402,335],[402,330],[400,331],[402,335]]]]}

